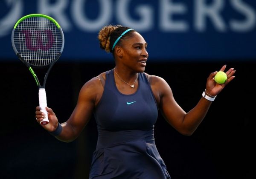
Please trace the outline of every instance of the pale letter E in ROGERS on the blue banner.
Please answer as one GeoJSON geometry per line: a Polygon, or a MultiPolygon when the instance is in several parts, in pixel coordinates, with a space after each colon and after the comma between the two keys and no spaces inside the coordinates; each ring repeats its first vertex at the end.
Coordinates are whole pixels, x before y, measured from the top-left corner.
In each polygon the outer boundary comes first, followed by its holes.
{"type": "Polygon", "coordinates": [[[184,14],[186,6],[181,3],[172,3],[172,0],[160,0],[159,26],[165,32],[185,32],[188,24],[184,21],[175,21],[169,18],[172,14],[184,14]]]}

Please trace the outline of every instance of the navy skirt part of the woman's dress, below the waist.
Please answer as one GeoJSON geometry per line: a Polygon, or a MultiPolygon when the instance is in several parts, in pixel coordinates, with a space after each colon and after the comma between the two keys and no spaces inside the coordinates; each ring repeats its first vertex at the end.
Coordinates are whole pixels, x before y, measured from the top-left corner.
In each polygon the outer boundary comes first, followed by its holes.
{"type": "Polygon", "coordinates": [[[170,179],[154,131],[99,131],[90,179],[170,179]],[[124,140],[125,139],[125,140],[124,140]]]}

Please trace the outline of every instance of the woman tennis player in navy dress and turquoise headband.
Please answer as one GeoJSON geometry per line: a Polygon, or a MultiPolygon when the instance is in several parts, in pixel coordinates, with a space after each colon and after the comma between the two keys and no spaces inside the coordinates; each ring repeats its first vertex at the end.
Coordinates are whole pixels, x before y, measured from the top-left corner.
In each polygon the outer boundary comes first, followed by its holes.
{"type": "MultiPolygon", "coordinates": [[[[115,66],[87,81],[79,92],[73,113],[59,124],[47,108],[49,124],[42,125],[60,141],[73,141],[94,115],[98,142],[93,153],[90,179],[169,179],[166,165],[154,142],[158,110],[179,133],[190,136],[204,119],[212,101],[235,76],[217,84],[211,72],[206,89],[195,107],[185,112],[175,101],[167,82],[144,72],[148,60],[145,39],[128,27],[105,26],[99,32],[100,47],[111,52],[115,66]]],[[[222,66],[219,71],[225,71],[222,66]]],[[[45,115],[36,107],[38,123],[45,115]]]]}

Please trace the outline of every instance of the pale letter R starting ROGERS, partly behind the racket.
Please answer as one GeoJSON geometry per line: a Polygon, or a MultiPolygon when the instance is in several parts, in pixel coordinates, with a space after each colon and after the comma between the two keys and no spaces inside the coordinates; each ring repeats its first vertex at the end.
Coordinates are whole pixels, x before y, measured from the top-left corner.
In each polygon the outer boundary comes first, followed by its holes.
{"type": "Polygon", "coordinates": [[[38,13],[47,14],[53,17],[55,20],[61,24],[61,27],[65,31],[69,31],[72,26],[68,20],[65,10],[67,9],[68,0],[56,0],[56,2],[50,3],[50,0],[38,0],[38,13]]]}

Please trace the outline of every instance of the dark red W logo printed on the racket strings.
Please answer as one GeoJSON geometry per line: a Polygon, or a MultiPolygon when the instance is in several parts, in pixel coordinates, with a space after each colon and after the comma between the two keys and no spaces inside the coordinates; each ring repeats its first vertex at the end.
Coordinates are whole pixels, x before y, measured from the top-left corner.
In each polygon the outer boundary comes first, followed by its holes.
{"type": "Polygon", "coordinates": [[[29,50],[37,51],[41,49],[43,51],[48,51],[53,46],[54,37],[51,30],[23,30],[22,33],[25,35],[26,47],[29,50]]]}

